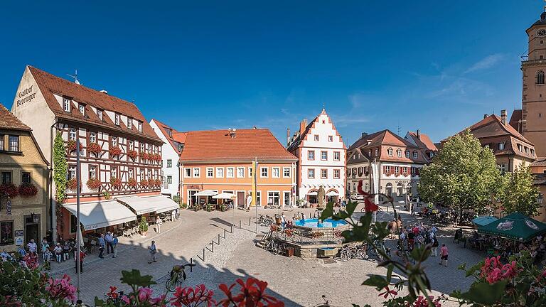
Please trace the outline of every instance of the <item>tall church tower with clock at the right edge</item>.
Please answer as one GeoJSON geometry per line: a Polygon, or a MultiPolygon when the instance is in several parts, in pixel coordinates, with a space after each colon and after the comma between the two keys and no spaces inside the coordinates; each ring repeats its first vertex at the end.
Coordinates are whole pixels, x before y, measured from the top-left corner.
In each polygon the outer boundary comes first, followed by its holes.
{"type": "Polygon", "coordinates": [[[523,72],[522,120],[520,131],[535,144],[537,156],[546,156],[546,12],[527,29],[528,58],[523,72]]]}

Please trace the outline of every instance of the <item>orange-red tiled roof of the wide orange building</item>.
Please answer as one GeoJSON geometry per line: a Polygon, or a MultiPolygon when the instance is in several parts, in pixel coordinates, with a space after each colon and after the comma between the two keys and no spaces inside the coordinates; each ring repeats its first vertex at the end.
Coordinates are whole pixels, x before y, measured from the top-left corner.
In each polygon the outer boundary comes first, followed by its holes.
{"type": "Polygon", "coordinates": [[[269,129],[237,129],[235,137],[229,130],[188,131],[181,162],[191,161],[297,161],[279,143],[269,129]]]}

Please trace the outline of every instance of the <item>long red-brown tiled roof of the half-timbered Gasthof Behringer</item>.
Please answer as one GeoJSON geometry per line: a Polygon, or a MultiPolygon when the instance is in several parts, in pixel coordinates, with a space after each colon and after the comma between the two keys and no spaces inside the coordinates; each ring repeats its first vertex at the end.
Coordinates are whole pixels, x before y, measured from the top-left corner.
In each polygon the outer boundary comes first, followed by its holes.
{"type": "Polygon", "coordinates": [[[49,108],[56,117],[69,119],[76,122],[85,122],[87,124],[95,124],[97,126],[104,126],[114,131],[134,134],[153,141],[163,142],[156,136],[154,129],[152,129],[150,124],[146,122],[146,119],[144,119],[144,116],[141,114],[139,108],[137,108],[135,104],[112,95],[108,95],[105,92],[92,90],[89,87],[78,85],[75,82],[70,82],[63,78],[56,77],[55,75],[51,75],[48,72],[39,70],[38,68],[33,68],[32,66],[28,66],[28,69],[33,75],[34,80],[36,80],[36,83],[38,84],[38,87],[45,98],[45,102],[47,102],[49,108]],[[77,108],[70,108],[71,112],[65,112],[53,94],[70,97],[75,102],[85,104],[85,115],[82,115],[77,108]],[[97,109],[117,112],[127,117],[137,119],[142,122],[142,132],[138,131],[138,127],[136,125],[133,125],[132,129],[129,129],[123,122],[120,122],[118,126],[114,124],[114,122],[112,122],[112,120],[109,119],[106,114],[103,115],[102,120],[100,120],[97,117],[97,114],[92,112],[90,106],[97,109]]]}

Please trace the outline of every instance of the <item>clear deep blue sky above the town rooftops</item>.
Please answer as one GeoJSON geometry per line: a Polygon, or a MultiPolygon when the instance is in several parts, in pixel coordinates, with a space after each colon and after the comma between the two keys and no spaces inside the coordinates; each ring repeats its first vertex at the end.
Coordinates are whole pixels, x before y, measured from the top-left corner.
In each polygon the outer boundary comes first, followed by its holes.
{"type": "Polygon", "coordinates": [[[521,105],[542,1],[4,1],[0,102],[25,65],[179,129],[286,129],[323,105],[346,143],[381,129],[439,141],[521,105]]]}

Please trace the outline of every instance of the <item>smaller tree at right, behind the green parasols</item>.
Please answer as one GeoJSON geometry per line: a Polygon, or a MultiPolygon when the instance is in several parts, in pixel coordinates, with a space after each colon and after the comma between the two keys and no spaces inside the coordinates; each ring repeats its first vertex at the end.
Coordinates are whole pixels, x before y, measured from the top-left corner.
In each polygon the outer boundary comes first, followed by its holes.
{"type": "Polygon", "coordinates": [[[541,205],[537,202],[538,188],[532,185],[532,173],[528,167],[516,168],[504,176],[505,188],[499,200],[508,214],[520,212],[524,215],[537,215],[541,205]]]}

